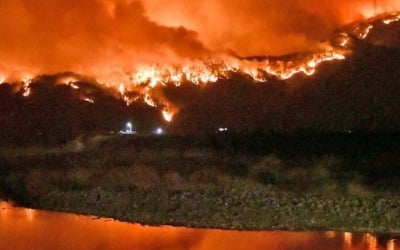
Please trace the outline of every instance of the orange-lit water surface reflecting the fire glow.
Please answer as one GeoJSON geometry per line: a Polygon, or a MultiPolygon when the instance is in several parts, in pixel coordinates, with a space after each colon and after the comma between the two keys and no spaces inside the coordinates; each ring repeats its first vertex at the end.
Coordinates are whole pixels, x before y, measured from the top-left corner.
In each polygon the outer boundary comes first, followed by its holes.
{"type": "Polygon", "coordinates": [[[148,227],[110,219],[15,208],[0,201],[0,249],[396,250],[395,239],[351,233],[236,232],[148,227]]]}

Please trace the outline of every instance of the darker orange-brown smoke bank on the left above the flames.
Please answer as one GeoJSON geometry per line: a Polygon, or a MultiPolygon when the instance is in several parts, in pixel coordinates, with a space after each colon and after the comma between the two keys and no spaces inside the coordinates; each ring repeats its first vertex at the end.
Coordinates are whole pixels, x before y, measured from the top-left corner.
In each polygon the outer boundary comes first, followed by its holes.
{"type": "Polygon", "coordinates": [[[151,21],[137,1],[2,0],[0,14],[0,71],[7,73],[125,70],[208,53],[195,32],[151,21]]]}

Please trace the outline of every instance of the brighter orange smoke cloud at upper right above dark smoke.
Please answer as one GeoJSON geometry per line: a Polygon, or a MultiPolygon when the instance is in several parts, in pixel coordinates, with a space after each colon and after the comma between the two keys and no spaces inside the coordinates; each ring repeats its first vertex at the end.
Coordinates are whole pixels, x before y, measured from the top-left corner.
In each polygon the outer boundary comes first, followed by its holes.
{"type": "Polygon", "coordinates": [[[342,25],[400,8],[397,0],[376,2],[376,6],[373,0],[146,0],[144,4],[153,20],[184,24],[213,50],[250,56],[310,51],[342,25]]]}

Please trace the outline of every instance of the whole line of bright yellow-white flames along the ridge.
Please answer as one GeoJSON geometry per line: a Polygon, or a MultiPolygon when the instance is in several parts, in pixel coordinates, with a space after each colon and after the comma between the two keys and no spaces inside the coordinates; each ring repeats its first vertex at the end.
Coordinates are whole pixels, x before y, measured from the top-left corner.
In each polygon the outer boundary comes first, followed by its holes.
{"type": "MultiPolygon", "coordinates": [[[[375,19],[371,19],[375,20],[375,19]]],[[[394,13],[382,18],[385,24],[400,21],[400,13],[394,13]]],[[[228,79],[232,74],[241,74],[258,83],[268,82],[271,77],[280,80],[290,79],[298,74],[311,76],[317,68],[325,62],[345,60],[351,53],[348,45],[354,35],[358,39],[366,39],[373,30],[372,21],[355,24],[347,32],[337,36],[335,45],[325,46],[325,50],[293,57],[265,57],[264,59],[239,58],[223,55],[217,59],[206,61],[189,61],[183,65],[142,65],[134,66],[134,70],[124,71],[118,77],[108,78],[101,73],[97,84],[109,89],[119,96],[128,106],[137,101],[143,101],[151,107],[161,110],[162,116],[168,122],[173,120],[178,108],[160,95],[159,89],[166,86],[179,87],[182,83],[206,85],[221,79],[228,79]],[[132,95],[132,93],[135,93],[132,95]]],[[[0,76],[0,84],[7,81],[7,77],[0,76]]],[[[26,74],[20,80],[21,92],[24,97],[31,94],[33,77],[26,74]]],[[[79,90],[80,77],[73,74],[64,74],[57,81],[58,84],[68,85],[79,90]]],[[[89,97],[82,101],[94,103],[89,97]]]]}

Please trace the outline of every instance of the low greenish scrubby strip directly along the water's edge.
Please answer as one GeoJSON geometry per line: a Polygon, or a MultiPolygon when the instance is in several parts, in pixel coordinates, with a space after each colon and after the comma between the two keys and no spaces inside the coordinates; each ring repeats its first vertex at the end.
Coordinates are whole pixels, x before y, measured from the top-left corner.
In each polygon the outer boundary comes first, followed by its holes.
{"type": "Polygon", "coordinates": [[[266,189],[50,192],[17,204],[144,225],[234,230],[346,231],[400,234],[400,197],[317,197],[266,189]]]}

